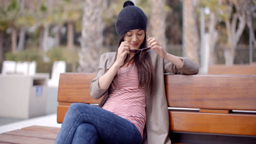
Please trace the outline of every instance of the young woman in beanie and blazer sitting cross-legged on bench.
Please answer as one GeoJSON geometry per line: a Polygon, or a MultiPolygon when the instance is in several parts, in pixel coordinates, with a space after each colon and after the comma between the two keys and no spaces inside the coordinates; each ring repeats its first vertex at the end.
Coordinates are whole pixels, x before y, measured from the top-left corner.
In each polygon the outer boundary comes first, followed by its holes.
{"type": "Polygon", "coordinates": [[[171,143],[164,73],[197,74],[199,68],[147,39],[147,16],[130,1],[115,28],[118,50],[101,56],[91,82],[91,96],[103,96],[99,107],[72,104],[56,143],[171,143]]]}

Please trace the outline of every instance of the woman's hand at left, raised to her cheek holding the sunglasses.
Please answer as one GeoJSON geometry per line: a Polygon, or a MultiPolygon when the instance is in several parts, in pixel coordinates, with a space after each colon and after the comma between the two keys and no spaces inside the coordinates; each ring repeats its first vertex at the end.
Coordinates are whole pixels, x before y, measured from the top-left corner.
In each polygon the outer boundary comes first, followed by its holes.
{"type": "Polygon", "coordinates": [[[119,67],[124,65],[124,61],[125,61],[127,54],[130,54],[129,43],[127,41],[123,41],[120,44],[120,46],[118,47],[117,60],[115,61],[115,63],[119,67]]]}

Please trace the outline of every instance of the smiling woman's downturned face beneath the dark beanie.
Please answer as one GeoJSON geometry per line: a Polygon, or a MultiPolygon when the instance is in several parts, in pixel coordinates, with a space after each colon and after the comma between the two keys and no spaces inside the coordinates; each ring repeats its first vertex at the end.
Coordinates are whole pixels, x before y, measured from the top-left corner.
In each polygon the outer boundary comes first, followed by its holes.
{"type": "Polygon", "coordinates": [[[145,31],[143,29],[133,29],[128,31],[124,37],[124,41],[130,43],[130,49],[139,49],[143,43],[145,31]]]}

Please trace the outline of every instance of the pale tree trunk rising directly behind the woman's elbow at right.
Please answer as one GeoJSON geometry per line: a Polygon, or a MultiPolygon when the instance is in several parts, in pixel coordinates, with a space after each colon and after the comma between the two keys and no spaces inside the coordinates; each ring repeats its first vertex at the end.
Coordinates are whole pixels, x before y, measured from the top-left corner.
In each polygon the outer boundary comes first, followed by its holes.
{"type": "Polygon", "coordinates": [[[200,46],[200,41],[193,1],[183,1],[183,20],[183,45],[185,57],[199,64],[198,47],[200,46]]]}

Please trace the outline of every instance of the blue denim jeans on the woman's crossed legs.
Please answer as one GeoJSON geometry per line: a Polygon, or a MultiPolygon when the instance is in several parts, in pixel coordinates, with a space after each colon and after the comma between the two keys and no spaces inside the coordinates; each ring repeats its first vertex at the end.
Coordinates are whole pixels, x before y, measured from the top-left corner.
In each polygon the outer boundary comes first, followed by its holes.
{"type": "Polygon", "coordinates": [[[101,107],[73,103],[55,143],[140,143],[137,127],[101,107]]]}

